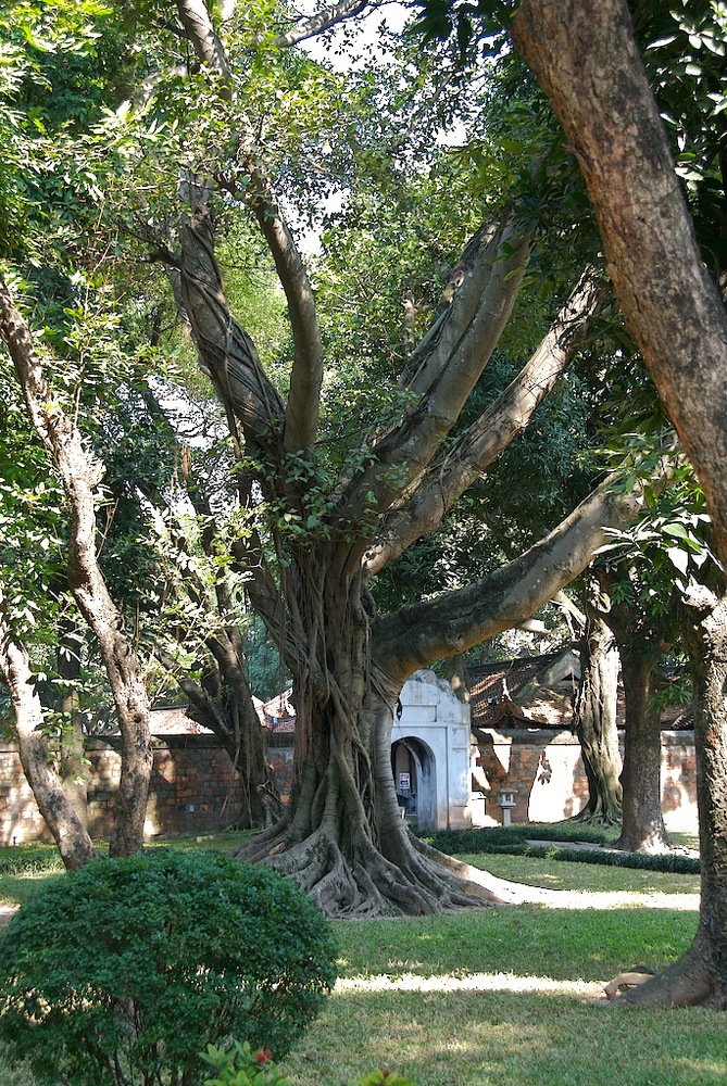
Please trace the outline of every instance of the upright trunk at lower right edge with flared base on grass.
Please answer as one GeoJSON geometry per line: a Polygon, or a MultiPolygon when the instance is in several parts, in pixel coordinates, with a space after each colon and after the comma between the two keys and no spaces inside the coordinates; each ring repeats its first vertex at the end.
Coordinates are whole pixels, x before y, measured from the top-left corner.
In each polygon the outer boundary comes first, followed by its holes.
{"type": "Polygon", "coordinates": [[[694,746],[701,854],[697,935],[687,954],[629,1002],[727,1009],[727,596],[691,585],[684,627],[694,680],[694,746]]]}

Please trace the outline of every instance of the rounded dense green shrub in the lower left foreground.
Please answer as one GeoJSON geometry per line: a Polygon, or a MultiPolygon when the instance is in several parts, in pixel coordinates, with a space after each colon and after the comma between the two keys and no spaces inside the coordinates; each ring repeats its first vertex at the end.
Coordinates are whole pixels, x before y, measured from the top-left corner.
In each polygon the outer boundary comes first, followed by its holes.
{"type": "Polygon", "coordinates": [[[215,853],[96,860],[24,906],[0,940],[0,1038],[42,1083],[193,1086],[229,1039],[284,1056],[336,971],[292,883],[215,853]]]}

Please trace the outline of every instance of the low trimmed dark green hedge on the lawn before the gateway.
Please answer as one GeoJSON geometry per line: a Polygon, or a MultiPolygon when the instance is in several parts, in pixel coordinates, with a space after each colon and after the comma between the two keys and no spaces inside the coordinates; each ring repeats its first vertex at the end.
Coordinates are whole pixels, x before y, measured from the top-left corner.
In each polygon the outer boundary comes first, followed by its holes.
{"type": "Polygon", "coordinates": [[[691,856],[642,856],[639,853],[605,853],[601,849],[571,848],[573,841],[606,845],[604,833],[586,826],[568,828],[565,832],[542,825],[512,825],[485,830],[422,831],[418,836],[449,856],[466,853],[506,854],[509,856],[546,856],[573,863],[600,863],[613,868],[639,868],[648,871],[669,871],[677,874],[699,874],[699,859],[691,856]],[[542,845],[529,842],[542,841],[542,845]]]}

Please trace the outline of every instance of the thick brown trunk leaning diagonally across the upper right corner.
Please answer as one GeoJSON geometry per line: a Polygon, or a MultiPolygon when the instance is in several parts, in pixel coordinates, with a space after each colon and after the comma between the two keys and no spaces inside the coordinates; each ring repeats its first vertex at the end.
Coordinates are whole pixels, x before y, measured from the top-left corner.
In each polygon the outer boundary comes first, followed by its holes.
{"type": "Polygon", "coordinates": [[[626,0],[524,0],[513,40],[578,156],[627,327],[727,566],[727,315],[702,262],[626,0]]]}

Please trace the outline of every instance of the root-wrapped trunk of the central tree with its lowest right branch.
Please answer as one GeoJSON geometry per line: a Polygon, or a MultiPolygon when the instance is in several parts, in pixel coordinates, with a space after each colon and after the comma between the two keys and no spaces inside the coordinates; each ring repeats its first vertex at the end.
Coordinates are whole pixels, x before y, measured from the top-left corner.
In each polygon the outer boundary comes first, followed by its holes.
{"type": "Polygon", "coordinates": [[[311,657],[296,675],[294,780],[283,820],[242,846],[289,875],[329,915],[441,911],[529,899],[428,849],[399,817],[391,728],[404,681],[455,648],[528,618],[587,565],[603,527],[634,495],[585,503],[577,516],[505,569],[460,592],[377,619],[362,573],[341,583],[325,548],[297,556],[296,606],[311,657]],[[577,569],[573,564],[576,564],[577,569]],[[454,633],[454,631],[456,631],[454,633]]]}

